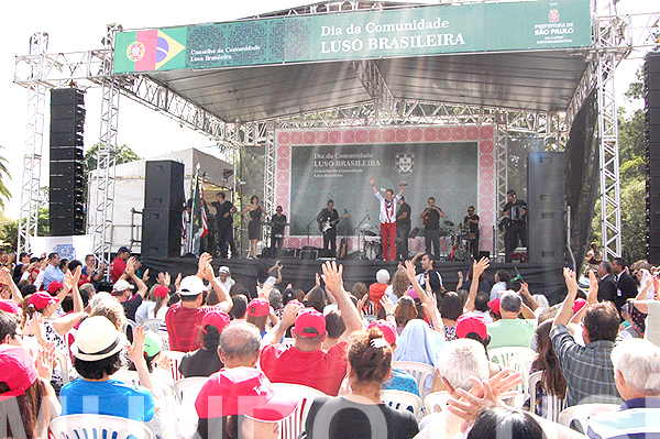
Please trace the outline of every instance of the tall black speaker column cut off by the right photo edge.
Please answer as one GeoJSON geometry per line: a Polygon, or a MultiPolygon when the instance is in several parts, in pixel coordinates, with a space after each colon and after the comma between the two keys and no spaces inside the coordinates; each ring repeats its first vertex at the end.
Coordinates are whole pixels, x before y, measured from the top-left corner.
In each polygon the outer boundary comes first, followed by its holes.
{"type": "Polygon", "coordinates": [[[647,257],[660,263],[660,54],[649,53],[644,68],[647,162],[647,257]]]}

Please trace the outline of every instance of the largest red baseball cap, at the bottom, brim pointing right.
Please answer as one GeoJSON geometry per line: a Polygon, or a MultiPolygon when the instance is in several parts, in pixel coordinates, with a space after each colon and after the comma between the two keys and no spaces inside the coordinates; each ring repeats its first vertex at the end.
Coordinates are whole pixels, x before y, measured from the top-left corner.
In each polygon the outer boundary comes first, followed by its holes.
{"type": "Polygon", "coordinates": [[[299,403],[299,397],[290,392],[276,394],[263,372],[233,367],[209,377],[195,400],[195,409],[201,419],[244,415],[275,422],[293,414],[299,403]]]}

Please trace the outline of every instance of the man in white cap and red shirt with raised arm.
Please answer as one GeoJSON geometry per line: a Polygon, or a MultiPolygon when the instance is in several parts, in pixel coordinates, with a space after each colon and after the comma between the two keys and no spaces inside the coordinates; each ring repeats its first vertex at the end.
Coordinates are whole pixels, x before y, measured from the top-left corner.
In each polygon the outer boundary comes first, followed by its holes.
{"type": "Polygon", "coordinates": [[[179,284],[177,293],[182,296],[182,300],[167,309],[165,322],[169,334],[169,348],[173,351],[189,352],[201,348],[204,316],[213,310],[228,312],[231,309],[232,299],[216,279],[211,261],[211,255],[208,253],[199,256],[197,274],[185,277],[179,284]],[[217,305],[202,306],[204,293],[208,289],[202,278],[210,283],[218,295],[220,301],[217,305]]]}

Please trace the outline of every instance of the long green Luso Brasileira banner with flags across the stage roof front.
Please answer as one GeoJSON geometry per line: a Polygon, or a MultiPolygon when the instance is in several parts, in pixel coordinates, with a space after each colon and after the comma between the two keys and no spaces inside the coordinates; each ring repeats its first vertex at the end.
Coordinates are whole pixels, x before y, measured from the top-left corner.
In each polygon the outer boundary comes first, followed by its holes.
{"type": "Polygon", "coordinates": [[[120,32],[114,73],[591,44],[588,0],[431,6],[120,32]]]}

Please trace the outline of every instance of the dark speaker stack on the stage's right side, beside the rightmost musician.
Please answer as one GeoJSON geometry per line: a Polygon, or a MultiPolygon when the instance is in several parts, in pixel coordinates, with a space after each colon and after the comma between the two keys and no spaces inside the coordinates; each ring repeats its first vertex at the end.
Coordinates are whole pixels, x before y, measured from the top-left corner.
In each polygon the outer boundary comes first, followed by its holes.
{"type": "Polygon", "coordinates": [[[564,155],[527,155],[528,256],[534,263],[563,264],[565,246],[564,155]]]}

